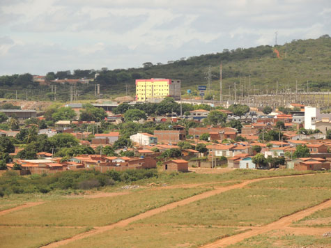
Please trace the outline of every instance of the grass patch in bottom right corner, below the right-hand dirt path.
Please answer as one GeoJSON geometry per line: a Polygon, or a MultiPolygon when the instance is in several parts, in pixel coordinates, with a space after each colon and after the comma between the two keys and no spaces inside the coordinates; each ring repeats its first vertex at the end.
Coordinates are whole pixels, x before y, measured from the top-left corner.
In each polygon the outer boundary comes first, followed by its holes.
{"type": "MultiPolygon", "coordinates": [[[[272,232],[247,238],[235,245],[226,248],[284,248],[307,247],[318,248],[321,245],[330,245],[330,238],[316,237],[313,235],[272,235],[272,232]]],[[[324,246],[323,246],[324,247],[324,246]]],[[[329,247],[329,246],[328,246],[329,247]]]]}

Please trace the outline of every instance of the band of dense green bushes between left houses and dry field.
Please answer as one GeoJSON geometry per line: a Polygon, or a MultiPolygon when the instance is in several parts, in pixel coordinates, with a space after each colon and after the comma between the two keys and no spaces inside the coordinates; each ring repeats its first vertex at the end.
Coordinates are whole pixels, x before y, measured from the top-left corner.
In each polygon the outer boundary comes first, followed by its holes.
{"type": "Polygon", "coordinates": [[[56,189],[91,189],[116,183],[130,183],[147,178],[157,178],[156,169],[127,171],[63,171],[54,174],[18,176],[7,171],[0,177],[0,196],[24,193],[47,193],[56,189]]]}

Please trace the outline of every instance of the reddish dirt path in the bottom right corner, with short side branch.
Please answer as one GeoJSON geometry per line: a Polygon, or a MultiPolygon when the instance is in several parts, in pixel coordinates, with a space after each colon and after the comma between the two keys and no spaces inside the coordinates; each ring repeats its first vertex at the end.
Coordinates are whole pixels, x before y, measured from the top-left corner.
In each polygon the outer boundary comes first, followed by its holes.
{"type": "MultiPolygon", "coordinates": [[[[307,217],[312,213],[322,210],[323,208],[330,208],[331,207],[331,200],[325,201],[321,204],[318,204],[314,207],[307,208],[305,210],[295,212],[293,215],[288,215],[286,217],[282,217],[281,219],[277,220],[276,222],[272,222],[268,225],[253,228],[251,231],[247,231],[245,233],[239,233],[237,235],[232,235],[230,237],[222,238],[221,240],[217,240],[211,244],[204,245],[202,248],[219,248],[219,247],[226,247],[228,245],[236,244],[237,242],[243,241],[245,238],[251,238],[252,236],[259,235],[262,233],[267,233],[268,231],[277,230],[287,228],[290,230],[288,226],[292,222],[296,222],[299,219],[307,217]]],[[[293,230],[298,231],[300,228],[293,228],[293,230]]],[[[308,228],[301,228],[302,233],[307,233],[308,228]]],[[[330,228],[329,228],[330,230],[330,228]]],[[[309,232],[308,232],[309,233],[309,232]]],[[[310,232],[311,233],[311,232],[310,232]]]]}

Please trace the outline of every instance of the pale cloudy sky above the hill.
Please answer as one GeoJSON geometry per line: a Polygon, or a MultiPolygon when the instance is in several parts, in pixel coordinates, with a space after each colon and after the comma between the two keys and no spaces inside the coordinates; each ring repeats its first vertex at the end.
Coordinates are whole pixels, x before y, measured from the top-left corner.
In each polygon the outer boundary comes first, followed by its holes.
{"type": "Polygon", "coordinates": [[[0,75],[137,68],[331,35],[330,0],[0,0],[0,75]]]}

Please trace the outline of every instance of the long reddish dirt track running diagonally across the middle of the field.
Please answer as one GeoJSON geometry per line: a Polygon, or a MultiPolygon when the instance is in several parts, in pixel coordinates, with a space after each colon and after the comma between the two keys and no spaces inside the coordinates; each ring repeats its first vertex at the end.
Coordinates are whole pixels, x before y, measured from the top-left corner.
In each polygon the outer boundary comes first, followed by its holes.
{"type": "MultiPolygon", "coordinates": [[[[308,175],[294,175],[293,177],[295,177],[295,176],[309,176],[309,175],[311,176],[311,174],[308,174],[308,175]]],[[[53,243],[51,243],[49,245],[43,246],[42,248],[46,248],[46,247],[47,248],[51,248],[51,247],[53,248],[53,247],[60,247],[61,245],[67,245],[68,243],[74,242],[75,240],[81,240],[83,238],[87,238],[87,237],[90,237],[90,236],[95,235],[95,234],[98,234],[98,233],[103,233],[105,231],[109,231],[109,230],[111,230],[113,228],[116,228],[116,227],[128,226],[128,224],[130,224],[132,222],[135,222],[135,221],[140,220],[140,219],[145,219],[145,218],[151,217],[153,215],[157,215],[157,214],[159,214],[161,212],[165,212],[167,210],[171,210],[171,209],[177,208],[178,206],[185,206],[185,205],[187,205],[189,203],[192,203],[194,201],[199,201],[201,199],[206,199],[206,198],[208,198],[210,196],[215,196],[217,194],[220,194],[222,192],[229,191],[231,189],[240,189],[242,187],[245,187],[249,183],[254,183],[254,182],[257,182],[259,180],[268,180],[268,179],[275,179],[275,178],[280,178],[280,177],[274,177],[274,178],[256,178],[256,179],[252,179],[252,180],[246,180],[245,182],[239,183],[239,184],[236,184],[236,185],[230,185],[230,186],[226,186],[226,187],[219,187],[219,188],[210,190],[208,192],[203,192],[201,194],[198,194],[198,195],[195,195],[195,196],[191,196],[191,197],[189,197],[187,199],[183,199],[181,201],[176,201],[174,203],[169,203],[169,204],[167,204],[165,206],[162,206],[160,208],[155,208],[153,210],[148,210],[148,211],[146,211],[144,213],[141,213],[141,214],[136,215],[134,217],[130,217],[128,219],[123,219],[120,222],[116,222],[116,223],[110,224],[108,226],[102,226],[102,227],[95,228],[92,231],[88,231],[86,233],[81,233],[79,235],[75,235],[72,238],[68,238],[66,240],[61,240],[61,241],[58,241],[58,242],[53,242],[53,243]]],[[[330,201],[330,203],[331,203],[331,201],[330,201]]],[[[282,219],[280,219],[279,221],[281,221],[281,220],[282,219]]],[[[256,229],[254,231],[259,231],[259,230],[256,229]]],[[[252,231],[249,231],[249,232],[252,232],[252,231]]],[[[254,233],[252,235],[254,235],[254,233]]],[[[229,237],[229,238],[231,238],[231,237],[229,237]]],[[[213,245],[213,244],[210,244],[210,245],[213,245]]],[[[214,246],[211,246],[211,247],[214,247],[214,246]]],[[[217,246],[215,246],[215,247],[217,247],[217,246]]]]}

